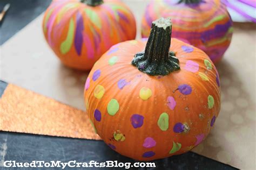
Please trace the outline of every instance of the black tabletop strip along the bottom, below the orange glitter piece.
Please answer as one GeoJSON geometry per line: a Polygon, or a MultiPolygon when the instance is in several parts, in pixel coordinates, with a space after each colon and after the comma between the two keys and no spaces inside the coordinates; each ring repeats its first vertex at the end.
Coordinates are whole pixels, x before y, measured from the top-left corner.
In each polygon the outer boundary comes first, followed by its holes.
{"type": "MultiPolygon", "coordinates": [[[[76,160],[77,162],[118,160],[119,162],[137,162],[111,150],[103,141],[96,140],[0,132],[1,143],[7,145],[4,159],[16,160],[16,162],[30,162],[32,160],[76,160]]],[[[151,169],[235,169],[192,152],[153,162],[156,162],[156,168],[151,169]]]]}

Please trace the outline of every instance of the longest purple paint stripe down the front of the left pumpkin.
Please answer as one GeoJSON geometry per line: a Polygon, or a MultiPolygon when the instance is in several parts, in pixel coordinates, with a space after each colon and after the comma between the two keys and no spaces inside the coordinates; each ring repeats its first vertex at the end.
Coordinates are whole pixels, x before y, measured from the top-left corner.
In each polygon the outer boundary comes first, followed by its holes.
{"type": "Polygon", "coordinates": [[[75,35],[75,48],[78,55],[81,55],[83,45],[84,22],[80,12],[77,13],[77,27],[75,35]]]}

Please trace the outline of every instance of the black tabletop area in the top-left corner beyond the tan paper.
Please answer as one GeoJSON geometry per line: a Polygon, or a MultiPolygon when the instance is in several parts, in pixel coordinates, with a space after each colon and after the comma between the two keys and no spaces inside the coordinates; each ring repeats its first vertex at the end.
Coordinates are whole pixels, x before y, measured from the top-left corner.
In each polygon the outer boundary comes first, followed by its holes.
{"type": "Polygon", "coordinates": [[[0,45],[44,12],[51,0],[0,0],[0,11],[7,3],[11,6],[1,23],[0,45]]]}

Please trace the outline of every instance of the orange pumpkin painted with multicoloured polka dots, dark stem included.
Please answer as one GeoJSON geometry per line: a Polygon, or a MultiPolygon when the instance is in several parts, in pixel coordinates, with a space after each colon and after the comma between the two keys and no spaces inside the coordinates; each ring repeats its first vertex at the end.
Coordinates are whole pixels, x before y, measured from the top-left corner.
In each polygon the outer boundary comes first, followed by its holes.
{"type": "Polygon", "coordinates": [[[114,45],[85,83],[86,111],[95,130],[113,150],[133,159],[191,150],[206,138],[220,111],[212,61],[170,34],[170,19],[154,21],[147,42],[114,45]]]}

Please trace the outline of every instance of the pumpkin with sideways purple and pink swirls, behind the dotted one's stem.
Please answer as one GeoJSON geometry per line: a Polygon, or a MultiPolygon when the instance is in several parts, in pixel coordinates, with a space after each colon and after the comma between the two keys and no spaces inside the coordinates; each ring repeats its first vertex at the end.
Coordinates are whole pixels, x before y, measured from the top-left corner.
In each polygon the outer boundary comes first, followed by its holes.
{"type": "Polygon", "coordinates": [[[153,20],[172,18],[172,37],[202,49],[217,63],[230,45],[233,23],[220,0],[151,1],[142,20],[142,37],[148,37],[153,20]]]}

